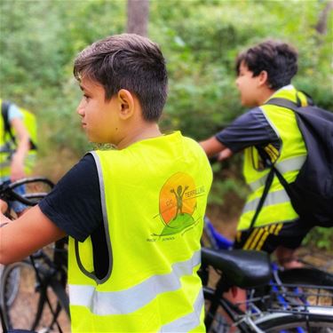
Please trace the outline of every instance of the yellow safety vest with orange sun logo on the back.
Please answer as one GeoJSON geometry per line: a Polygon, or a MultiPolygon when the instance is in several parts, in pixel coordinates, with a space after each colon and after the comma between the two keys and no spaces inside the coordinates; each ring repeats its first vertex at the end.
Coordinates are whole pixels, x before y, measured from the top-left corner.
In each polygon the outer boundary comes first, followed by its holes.
{"type": "Polygon", "coordinates": [[[205,331],[200,239],[212,173],[180,132],[91,153],[109,270],[93,274],[90,237],[69,240],[72,331],[205,331]]]}

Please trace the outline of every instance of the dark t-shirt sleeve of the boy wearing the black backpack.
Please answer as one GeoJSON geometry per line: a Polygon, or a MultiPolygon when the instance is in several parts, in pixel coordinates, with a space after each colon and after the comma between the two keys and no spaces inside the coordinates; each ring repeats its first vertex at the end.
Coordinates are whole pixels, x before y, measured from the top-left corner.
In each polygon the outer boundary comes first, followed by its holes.
{"type": "Polygon", "coordinates": [[[278,135],[259,107],[239,116],[225,130],[218,132],[216,139],[234,153],[251,146],[264,147],[268,143],[278,150],[281,146],[278,135]]]}

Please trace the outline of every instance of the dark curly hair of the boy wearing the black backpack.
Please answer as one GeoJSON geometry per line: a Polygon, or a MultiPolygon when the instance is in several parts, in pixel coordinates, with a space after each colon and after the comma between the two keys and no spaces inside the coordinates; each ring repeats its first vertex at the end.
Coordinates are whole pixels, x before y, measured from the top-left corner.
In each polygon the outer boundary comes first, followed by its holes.
{"type": "Polygon", "coordinates": [[[274,90],[289,84],[297,73],[297,51],[289,44],[273,40],[242,52],[236,59],[237,75],[242,62],[253,72],[253,76],[266,70],[268,85],[274,90]]]}

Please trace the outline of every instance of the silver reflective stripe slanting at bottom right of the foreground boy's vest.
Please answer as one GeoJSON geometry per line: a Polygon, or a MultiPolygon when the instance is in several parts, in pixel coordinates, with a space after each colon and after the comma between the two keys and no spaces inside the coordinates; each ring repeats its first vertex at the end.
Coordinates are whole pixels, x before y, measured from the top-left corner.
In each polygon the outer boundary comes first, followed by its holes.
{"type": "Polygon", "coordinates": [[[188,332],[191,329],[195,329],[200,325],[200,315],[202,313],[203,302],[203,293],[202,289],[200,289],[198,297],[196,297],[194,302],[194,312],[186,314],[184,317],[178,318],[176,321],[172,321],[169,324],[163,325],[159,331],[188,332]]]}

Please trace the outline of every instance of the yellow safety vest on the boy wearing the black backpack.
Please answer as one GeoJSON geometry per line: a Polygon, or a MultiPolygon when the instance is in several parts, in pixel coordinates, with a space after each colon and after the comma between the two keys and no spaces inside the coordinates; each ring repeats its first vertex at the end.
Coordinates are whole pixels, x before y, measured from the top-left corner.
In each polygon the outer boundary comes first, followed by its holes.
{"type": "MultiPolygon", "coordinates": [[[[282,98],[293,102],[301,100],[303,106],[307,104],[304,94],[297,92],[292,85],[276,91],[270,99],[282,98]]],[[[295,180],[299,169],[305,162],[306,147],[302,134],[298,129],[296,117],[293,111],[276,107],[274,105],[264,105],[260,107],[266,116],[267,122],[271,124],[276,135],[281,140],[280,151],[277,152],[272,145],[265,147],[266,153],[275,160],[275,167],[281,172],[283,177],[290,183],[295,180]],[[275,159],[274,159],[275,155],[275,159]]],[[[258,202],[263,194],[266,177],[269,167],[260,170],[262,164],[255,147],[248,147],[244,151],[244,177],[250,186],[251,193],[242,210],[242,216],[238,225],[238,230],[245,230],[250,227],[250,222],[258,207],[258,202]]],[[[289,196],[278,178],[274,181],[267,194],[264,206],[258,215],[255,226],[267,226],[279,222],[292,222],[298,215],[292,208],[289,196]]]]}

